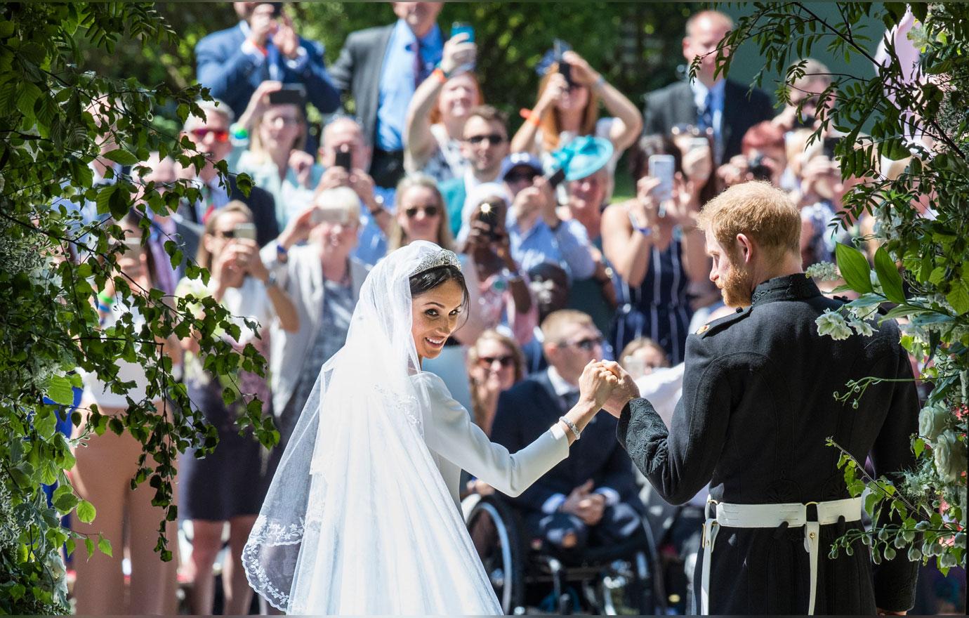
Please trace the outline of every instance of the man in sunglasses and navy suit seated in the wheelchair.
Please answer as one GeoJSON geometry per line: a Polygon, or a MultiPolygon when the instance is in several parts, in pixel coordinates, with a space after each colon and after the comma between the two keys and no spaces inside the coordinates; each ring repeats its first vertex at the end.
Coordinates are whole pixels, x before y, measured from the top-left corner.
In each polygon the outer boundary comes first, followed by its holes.
{"type": "MultiPolygon", "coordinates": [[[[542,434],[578,399],[581,369],[603,358],[603,336],[588,315],[574,310],[551,313],[542,323],[548,368],[503,392],[491,440],[515,452],[542,434]]],[[[616,422],[597,416],[582,430],[567,461],[558,464],[516,498],[528,541],[547,552],[580,558],[585,548],[618,544],[641,529],[644,512],[622,448],[616,422]]]]}

